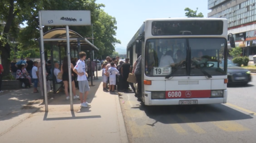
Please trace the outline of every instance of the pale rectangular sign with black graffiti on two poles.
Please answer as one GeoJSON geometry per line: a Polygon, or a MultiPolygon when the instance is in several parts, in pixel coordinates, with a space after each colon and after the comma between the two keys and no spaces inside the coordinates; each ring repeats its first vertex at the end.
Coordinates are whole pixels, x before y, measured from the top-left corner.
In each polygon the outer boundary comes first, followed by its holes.
{"type": "Polygon", "coordinates": [[[91,26],[89,10],[42,10],[43,26],[91,26]]]}

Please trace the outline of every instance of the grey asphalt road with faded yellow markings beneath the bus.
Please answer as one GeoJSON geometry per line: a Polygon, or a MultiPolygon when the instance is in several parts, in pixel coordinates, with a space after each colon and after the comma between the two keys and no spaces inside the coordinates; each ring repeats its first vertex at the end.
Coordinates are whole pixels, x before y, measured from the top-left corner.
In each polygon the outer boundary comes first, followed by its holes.
{"type": "Polygon", "coordinates": [[[249,85],[228,87],[228,103],[197,106],[141,106],[122,93],[130,142],[256,142],[256,76],[249,85]]]}

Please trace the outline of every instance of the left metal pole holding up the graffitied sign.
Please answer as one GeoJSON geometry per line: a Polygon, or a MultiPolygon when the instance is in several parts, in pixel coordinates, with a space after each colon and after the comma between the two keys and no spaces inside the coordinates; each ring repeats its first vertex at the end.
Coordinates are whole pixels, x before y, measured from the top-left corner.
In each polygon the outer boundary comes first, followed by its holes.
{"type": "Polygon", "coordinates": [[[40,45],[41,45],[41,68],[42,68],[42,85],[44,88],[45,96],[45,111],[48,112],[48,97],[46,90],[46,61],[45,61],[45,47],[44,47],[44,32],[42,31],[41,11],[38,13],[39,18],[39,30],[40,30],[40,45]]]}

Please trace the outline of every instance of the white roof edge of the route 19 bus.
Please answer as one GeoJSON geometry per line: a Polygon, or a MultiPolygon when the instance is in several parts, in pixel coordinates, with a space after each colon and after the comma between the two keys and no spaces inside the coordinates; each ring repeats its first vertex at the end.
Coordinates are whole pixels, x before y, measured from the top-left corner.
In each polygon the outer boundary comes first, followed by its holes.
{"type": "Polygon", "coordinates": [[[142,26],[140,27],[140,29],[135,33],[135,35],[133,36],[133,38],[130,40],[130,42],[127,44],[127,49],[130,48],[130,46],[132,46],[136,40],[138,40],[142,34],[144,34],[144,30],[145,30],[145,23],[147,23],[148,21],[175,21],[175,20],[182,20],[182,21],[189,21],[189,20],[222,20],[222,21],[227,21],[226,18],[199,18],[199,17],[189,17],[189,18],[154,18],[154,19],[146,19],[142,26]]]}

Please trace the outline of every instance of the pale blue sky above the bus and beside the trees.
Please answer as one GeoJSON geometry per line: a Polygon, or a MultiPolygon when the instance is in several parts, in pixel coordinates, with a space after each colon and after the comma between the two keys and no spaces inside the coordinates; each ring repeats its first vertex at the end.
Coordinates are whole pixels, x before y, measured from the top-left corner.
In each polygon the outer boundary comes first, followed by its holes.
{"type": "Polygon", "coordinates": [[[117,20],[115,37],[121,44],[117,44],[116,49],[126,49],[126,45],[146,19],[185,17],[186,7],[192,10],[198,8],[198,13],[202,12],[204,17],[210,12],[206,0],[97,0],[96,3],[104,4],[102,9],[117,20]]]}

